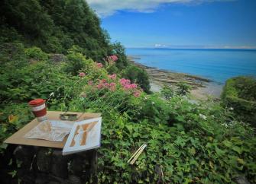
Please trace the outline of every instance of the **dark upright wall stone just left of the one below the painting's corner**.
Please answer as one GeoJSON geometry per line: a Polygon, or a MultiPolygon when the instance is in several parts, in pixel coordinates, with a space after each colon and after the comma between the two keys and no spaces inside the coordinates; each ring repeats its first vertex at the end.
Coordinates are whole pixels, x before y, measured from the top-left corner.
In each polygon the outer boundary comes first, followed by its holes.
{"type": "Polygon", "coordinates": [[[37,153],[37,168],[41,172],[49,172],[51,168],[51,154],[48,148],[41,148],[37,153]]]}

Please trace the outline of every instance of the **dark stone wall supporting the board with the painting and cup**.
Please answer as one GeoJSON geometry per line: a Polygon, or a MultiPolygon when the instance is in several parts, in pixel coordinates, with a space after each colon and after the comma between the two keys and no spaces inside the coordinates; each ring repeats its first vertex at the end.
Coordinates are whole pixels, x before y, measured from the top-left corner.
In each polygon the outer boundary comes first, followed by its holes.
{"type": "Polygon", "coordinates": [[[62,150],[18,146],[17,176],[25,184],[96,183],[97,151],[62,155],[62,150]]]}

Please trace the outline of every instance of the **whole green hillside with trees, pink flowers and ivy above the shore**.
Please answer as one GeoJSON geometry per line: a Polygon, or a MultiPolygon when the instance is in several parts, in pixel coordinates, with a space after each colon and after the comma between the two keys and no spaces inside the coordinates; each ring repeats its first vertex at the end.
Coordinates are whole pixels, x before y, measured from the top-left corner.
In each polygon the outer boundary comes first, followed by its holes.
{"type": "Polygon", "coordinates": [[[256,182],[254,128],[229,106],[192,103],[183,82],[177,91],[165,86],[151,94],[144,70],[128,62],[121,43],[109,42],[86,2],[0,3],[2,183],[26,183],[15,145],[3,141],[34,118],[28,107],[34,98],[47,100],[48,110],[102,113],[99,183],[256,182]],[[143,143],[147,148],[128,164],[143,143]]]}

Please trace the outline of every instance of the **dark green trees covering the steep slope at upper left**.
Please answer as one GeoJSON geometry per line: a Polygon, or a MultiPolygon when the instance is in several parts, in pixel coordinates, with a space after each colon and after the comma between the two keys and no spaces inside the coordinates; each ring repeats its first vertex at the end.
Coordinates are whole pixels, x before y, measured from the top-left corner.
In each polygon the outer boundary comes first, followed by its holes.
{"type": "Polygon", "coordinates": [[[75,44],[99,62],[111,52],[109,36],[83,0],[4,0],[0,11],[2,42],[22,41],[44,52],[63,53],[75,44]]]}

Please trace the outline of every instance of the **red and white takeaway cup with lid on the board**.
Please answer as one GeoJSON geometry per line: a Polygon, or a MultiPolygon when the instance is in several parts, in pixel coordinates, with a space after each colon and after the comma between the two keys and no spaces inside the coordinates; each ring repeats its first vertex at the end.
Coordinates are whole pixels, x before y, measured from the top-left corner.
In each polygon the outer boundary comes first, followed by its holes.
{"type": "Polygon", "coordinates": [[[29,106],[31,106],[31,110],[34,113],[34,116],[37,117],[38,122],[44,121],[47,119],[47,110],[45,105],[44,99],[35,99],[31,100],[29,103],[29,106]]]}

